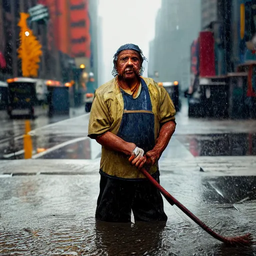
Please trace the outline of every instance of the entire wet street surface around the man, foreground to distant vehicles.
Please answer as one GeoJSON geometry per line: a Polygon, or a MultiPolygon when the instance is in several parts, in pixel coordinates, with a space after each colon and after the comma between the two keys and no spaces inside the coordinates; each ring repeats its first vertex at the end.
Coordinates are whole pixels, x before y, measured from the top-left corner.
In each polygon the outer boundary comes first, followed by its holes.
{"type": "MultiPolygon", "coordinates": [[[[182,105],[161,185],[217,233],[256,238],[256,120],[188,118],[182,105]]],[[[224,246],[165,199],[166,226],[96,222],[100,145],[88,118],[31,120],[32,159],[11,154],[23,148],[24,120],[1,120],[0,255],[256,255],[224,246]]]]}

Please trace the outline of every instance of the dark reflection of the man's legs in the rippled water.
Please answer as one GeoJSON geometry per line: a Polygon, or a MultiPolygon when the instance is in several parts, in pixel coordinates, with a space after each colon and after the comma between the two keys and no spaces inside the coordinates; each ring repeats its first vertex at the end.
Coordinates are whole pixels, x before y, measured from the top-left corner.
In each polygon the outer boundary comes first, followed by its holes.
{"type": "Polygon", "coordinates": [[[165,224],[95,222],[96,247],[103,255],[160,255],[165,224]],[[160,254],[157,254],[157,251],[160,254]],[[152,254],[156,253],[156,254],[152,254]]]}

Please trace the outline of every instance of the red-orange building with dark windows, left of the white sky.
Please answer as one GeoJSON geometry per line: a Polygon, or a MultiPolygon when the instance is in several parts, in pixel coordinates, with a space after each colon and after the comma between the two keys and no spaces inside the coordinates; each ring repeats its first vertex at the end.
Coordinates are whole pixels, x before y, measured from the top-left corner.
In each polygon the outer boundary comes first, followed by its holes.
{"type": "MultiPolygon", "coordinates": [[[[85,66],[98,83],[98,0],[40,0],[49,8],[50,41],[56,44],[65,65],[85,66]]],[[[60,61],[61,62],[61,61],[60,61]]],[[[61,69],[68,67],[61,66],[61,69]]],[[[70,68],[69,68],[70,69],[70,68]]],[[[68,74],[64,74],[68,77],[68,74]]]]}

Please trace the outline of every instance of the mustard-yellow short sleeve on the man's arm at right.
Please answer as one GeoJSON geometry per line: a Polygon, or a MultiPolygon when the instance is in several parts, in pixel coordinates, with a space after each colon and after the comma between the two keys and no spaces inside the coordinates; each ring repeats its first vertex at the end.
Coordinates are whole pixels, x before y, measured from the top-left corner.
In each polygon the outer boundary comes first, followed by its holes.
{"type": "MultiPolygon", "coordinates": [[[[158,86],[158,85],[156,85],[158,86]]],[[[176,110],[174,108],[174,104],[170,99],[169,94],[162,86],[158,86],[159,88],[159,112],[158,118],[160,123],[164,123],[170,120],[175,121],[176,110]]]]}

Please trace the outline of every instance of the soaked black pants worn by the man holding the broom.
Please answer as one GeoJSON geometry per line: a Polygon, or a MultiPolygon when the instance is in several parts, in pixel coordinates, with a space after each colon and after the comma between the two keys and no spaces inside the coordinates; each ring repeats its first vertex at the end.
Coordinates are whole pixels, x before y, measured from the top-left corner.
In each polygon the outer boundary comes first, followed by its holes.
{"type": "MultiPolygon", "coordinates": [[[[155,177],[159,182],[159,175],[155,177]]],[[[148,180],[130,181],[100,175],[95,218],[108,222],[166,221],[160,192],[148,180]]]]}

